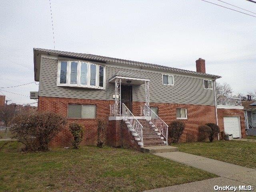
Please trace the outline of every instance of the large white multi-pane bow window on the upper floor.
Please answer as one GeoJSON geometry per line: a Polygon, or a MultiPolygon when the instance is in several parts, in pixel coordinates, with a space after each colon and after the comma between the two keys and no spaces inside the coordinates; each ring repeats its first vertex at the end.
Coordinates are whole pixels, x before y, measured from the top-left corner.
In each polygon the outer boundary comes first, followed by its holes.
{"type": "Polygon", "coordinates": [[[57,86],[105,89],[106,68],[83,61],[59,61],[57,86]]]}

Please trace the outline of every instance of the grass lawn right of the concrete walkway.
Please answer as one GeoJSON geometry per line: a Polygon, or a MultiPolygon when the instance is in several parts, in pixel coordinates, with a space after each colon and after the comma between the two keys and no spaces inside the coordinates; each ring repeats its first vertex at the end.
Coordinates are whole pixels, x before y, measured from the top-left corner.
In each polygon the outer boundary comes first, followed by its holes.
{"type": "Polygon", "coordinates": [[[179,151],[240,166],[256,168],[256,144],[245,141],[214,141],[175,144],[179,151]]]}

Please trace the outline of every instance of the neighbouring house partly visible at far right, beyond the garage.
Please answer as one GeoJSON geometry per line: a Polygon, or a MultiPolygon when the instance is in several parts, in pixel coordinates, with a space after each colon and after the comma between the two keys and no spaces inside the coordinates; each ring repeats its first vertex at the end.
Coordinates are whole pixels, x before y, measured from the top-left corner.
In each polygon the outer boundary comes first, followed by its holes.
{"type": "Polygon", "coordinates": [[[247,100],[242,100],[242,106],[244,106],[245,128],[248,135],[256,135],[256,101],[251,100],[248,95],[247,100]],[[252,128],[255,128],[252,129],[252,128]]]}

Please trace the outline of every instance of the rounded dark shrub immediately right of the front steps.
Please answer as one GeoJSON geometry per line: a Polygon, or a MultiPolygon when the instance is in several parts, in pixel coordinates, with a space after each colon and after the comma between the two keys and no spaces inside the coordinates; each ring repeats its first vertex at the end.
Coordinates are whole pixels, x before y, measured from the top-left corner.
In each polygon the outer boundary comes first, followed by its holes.
{"type": "Polygon", "coordinates": [[[182,135],[185,128],[185,124],[182,121],[175,120],[169,124],[168,127],[168,142],[169,143],[178,143],[180,136],[182,135]]]}

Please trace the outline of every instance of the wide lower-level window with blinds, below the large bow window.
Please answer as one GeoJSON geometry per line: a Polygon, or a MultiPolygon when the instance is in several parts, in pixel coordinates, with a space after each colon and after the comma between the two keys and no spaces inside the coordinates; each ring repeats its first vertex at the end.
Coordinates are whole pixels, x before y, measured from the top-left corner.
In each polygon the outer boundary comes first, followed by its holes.
{"type": "Polygon", "coordinates": [[[96,118],[96,105],[68,105],[69,118],[96,118]]]}

